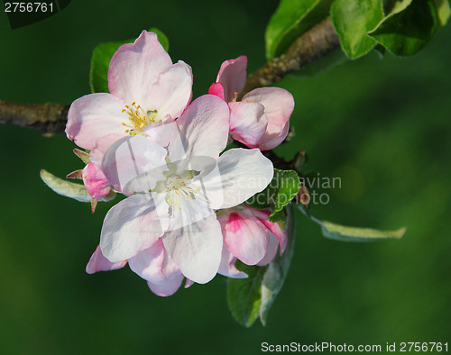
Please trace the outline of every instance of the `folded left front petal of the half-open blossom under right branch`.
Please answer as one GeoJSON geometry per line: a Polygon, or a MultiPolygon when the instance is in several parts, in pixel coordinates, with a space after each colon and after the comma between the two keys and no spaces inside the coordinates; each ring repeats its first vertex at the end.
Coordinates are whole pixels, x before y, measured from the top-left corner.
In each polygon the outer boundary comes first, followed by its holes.
{"type": "Polygon", "coordinates": [[[262,140],[268,119],[259,103],[229,103],[230,133],[236,141],[255,148],[262,140]]]}

